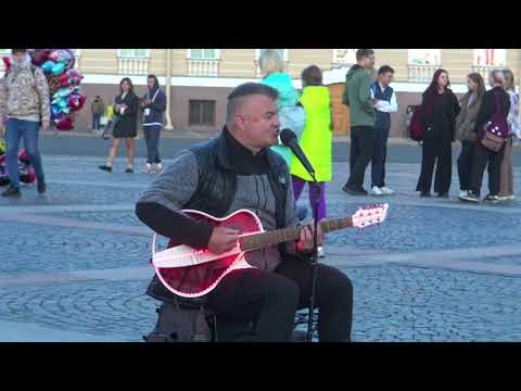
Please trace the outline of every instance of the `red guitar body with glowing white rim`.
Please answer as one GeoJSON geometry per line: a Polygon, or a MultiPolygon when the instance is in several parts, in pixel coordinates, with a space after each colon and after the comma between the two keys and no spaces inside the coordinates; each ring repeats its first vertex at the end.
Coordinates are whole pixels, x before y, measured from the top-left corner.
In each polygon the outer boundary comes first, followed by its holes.
{"type": "MultiPolygon", "coordinates": [[[[237,211],[224,218],[216,218],[199,211],[183,211],[183,213],[194,220],[204,220],[214,227],[237,229],[241,235],[264,231],[258,217],[247,210],[237,211]]],[[[254,267],[245,261],[244,252],[240,248],[219,256],[209,253],[207,250],[198,251],[188,245],[177,245],[170,240],[168,249],[179,254],[180,266],[158,267],[154,264],[155,273],[169,291],[183,298],[205,295],[231,272],[254,267]],[[193,262],[194,264],[187,265],[187,254],[193,254],[192,257],[196,257],[198,263],[193,262]],[[213,256],[213,258],[208,262],[202,262],[201,258],[204,261],[205,256],[213,256]]]]}

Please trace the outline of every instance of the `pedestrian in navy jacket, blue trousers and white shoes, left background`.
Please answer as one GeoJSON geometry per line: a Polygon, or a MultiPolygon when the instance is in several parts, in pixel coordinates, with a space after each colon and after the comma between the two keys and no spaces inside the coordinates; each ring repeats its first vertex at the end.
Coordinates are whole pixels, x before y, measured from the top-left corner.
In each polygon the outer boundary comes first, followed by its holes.
{"type": "Polygon", "coordinates": [[[166,94],[160,87],[160,80],[155,75],[147,78],[149,92],[144,96],[141,106],[143,109],[143,133],[147,142],[147,165],[143,172],[152,173],[152,165],[155,164],[155,172],[163,171],[160,157],[160,137],[163,129],[163,113],[166,111],[166,94]]]}

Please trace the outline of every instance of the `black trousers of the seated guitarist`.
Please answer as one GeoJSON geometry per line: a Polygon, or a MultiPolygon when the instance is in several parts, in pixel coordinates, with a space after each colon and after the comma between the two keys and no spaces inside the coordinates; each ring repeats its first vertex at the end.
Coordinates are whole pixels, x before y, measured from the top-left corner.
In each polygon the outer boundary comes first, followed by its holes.
{"type": "MultiPolygon", "coordinates": [[[[259,341],[291,341],[295,312],[309,305],[312,264],[288,256],[277,270],[234,270],[207,295],[218,317],[255,321],[259,341]]],[[[320,341],[351,341],[353,286],[334,267],[319,264],[315,304],[320,341]]]]}

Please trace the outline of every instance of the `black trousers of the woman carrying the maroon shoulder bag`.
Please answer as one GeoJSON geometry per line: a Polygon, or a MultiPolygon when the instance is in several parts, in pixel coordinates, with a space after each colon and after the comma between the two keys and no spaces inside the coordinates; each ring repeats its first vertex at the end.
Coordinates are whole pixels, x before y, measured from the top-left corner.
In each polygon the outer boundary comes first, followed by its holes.
{"type": "Polygon", "coordinates": [[[474,159],[472,163],[471,190],[476,194],[481,192],[483,174],[488,164],[488,191],[491,195],[499,194],[501,163],[505,154],[505,147],[499,152],[487,150],[476,142],[474,159]]]}

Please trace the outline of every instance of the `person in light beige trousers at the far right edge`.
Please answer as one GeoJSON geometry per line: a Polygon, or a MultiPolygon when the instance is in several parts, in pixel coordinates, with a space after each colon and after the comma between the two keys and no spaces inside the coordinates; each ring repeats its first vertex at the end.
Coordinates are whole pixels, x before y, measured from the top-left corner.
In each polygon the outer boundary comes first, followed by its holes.
{"type": "Polygon", "coordinates": [[[503,71],[505,76],[505,90],[510,96],[510,112],[508,114],[508,125],[510,136],[505,144],[505,155],[503,156],[499,200],[514,200],[513,195],[513,173],[512,173],[512,144],[520,138],[519,126],[519,93],[516,92],[513,73],[510,70],[503,71]]]}

